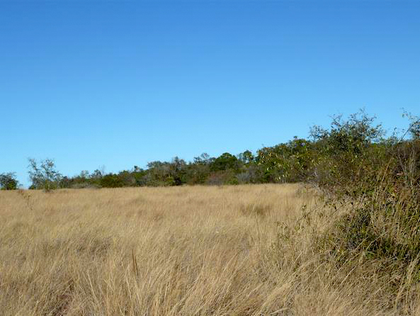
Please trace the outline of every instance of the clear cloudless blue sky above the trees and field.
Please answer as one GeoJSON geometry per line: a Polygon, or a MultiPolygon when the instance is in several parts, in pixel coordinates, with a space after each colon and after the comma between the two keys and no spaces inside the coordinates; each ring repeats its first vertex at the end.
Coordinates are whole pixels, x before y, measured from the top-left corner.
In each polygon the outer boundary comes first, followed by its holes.
{"type": "Polygon", "coordinates": [[[420,114],[420,1],[0,0],[0,173],[255,151],[420,114]]]}

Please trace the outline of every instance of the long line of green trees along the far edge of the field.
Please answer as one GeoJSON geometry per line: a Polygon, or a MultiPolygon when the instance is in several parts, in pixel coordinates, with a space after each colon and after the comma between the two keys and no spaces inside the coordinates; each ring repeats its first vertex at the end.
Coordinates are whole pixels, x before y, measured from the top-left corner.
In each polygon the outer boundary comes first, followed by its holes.
{"type": "MultiPolygon", "coordinates": [[[[134,166],[118,173],[101,170],[81,171],[77,176],[63,176],[52,159],[37,162],[29,159],[30,188],[50,191],[55,188],[116,188],[125,186],[180,186],[264,184],[313,182],[321,186],[336,186],[358,181],[368,172],[378,170],[390,155],[390,148],[416,146],[419,143],[419,121],[411,120],[407,133],[385,137],[381,125],[364,111],[343,118],[336,115],[329,128],[313,126],[307,139],[294,137],[273,147],[263,147],[256,153],[246,150],[219,157],[201,154],[192,162],[174,157],[170,162],[149,162],[147,168],[134,166]]],[[[417,161],[415,164],[419,164],[417,161]]],[[[418,179],[417,179],[418,181],[418,179]]],[[[0,187],[18,188],[16,174],[0,174],[0,187]]]]}

